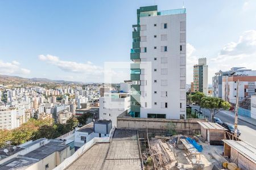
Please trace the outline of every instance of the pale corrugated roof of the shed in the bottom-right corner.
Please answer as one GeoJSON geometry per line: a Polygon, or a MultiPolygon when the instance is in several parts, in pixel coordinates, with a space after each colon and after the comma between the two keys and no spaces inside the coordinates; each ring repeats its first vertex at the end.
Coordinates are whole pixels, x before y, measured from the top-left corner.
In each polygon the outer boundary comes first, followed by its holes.
{"type": "Polygon", "coordinates": [[[234,148],[238,153],[245,156],[251,162],[256,164],[256,147],[250,145],[243,141],[233,141],[233,140],[222,140],[224,143],[234,148]]]}

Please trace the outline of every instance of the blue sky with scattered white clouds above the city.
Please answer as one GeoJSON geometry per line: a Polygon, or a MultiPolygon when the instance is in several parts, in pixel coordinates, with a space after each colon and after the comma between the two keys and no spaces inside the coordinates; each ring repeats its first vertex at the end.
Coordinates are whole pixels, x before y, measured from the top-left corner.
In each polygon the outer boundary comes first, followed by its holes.
{"type": "MultiPolygon", "coordinates": [[[[137,8],[182,8],[176,0],[0,1],[0,74],[79,82],[130,79],[131,25],[137,8]],[[117,69],[106,70],[115,65],[117,69]]],[[[208,83],[219,70],[256,70],[256,1],[184,1],[187,84],[207,57],[208,83]]]]}

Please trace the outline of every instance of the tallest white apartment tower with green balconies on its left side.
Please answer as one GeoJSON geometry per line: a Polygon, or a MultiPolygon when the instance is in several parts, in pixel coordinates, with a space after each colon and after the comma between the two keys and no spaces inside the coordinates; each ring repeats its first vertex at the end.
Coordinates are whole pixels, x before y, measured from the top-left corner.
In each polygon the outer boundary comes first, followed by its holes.
{"type": "Polygon", "coordinates": [[[140,7],[131,49],[131,116],[184,119],[185,8],[140,7]]]}

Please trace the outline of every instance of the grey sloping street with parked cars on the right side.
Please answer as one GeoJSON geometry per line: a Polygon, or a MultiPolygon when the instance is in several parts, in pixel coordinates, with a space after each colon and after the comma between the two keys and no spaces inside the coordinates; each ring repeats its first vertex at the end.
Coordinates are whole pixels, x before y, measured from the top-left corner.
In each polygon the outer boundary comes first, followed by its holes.
{"type": "MultiPolygon", "coordinates": [[[[199,106],[193,105],[192,108],[199,110],[199,106]]],[[[201,108],[201,112],[207,117],[209,117],[210,121],[210,111],[209,109],[201,108]]],[[[234,124],[234,114],[230,114],[228,111],[221,111],[217,113],[214,117],[218,117],[222,122],[228,122],[230,124],[234,124]]],[[[248,124],[245,121],[238,119],[238,129],[241,131],[240,138],[250,143],[251,145],[256,147],[256,125],[248,124]]]]}

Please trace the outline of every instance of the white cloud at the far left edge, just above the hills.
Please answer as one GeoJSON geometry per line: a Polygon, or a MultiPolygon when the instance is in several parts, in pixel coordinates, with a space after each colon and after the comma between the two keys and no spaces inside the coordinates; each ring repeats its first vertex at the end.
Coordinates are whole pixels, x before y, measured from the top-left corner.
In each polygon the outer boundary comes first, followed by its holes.
{"type": "Polygon", "coordinates": [[[21,68],[18,61],[3,62],[0,60],[0,74],[30,74],[30,70],[21,68]]]}

